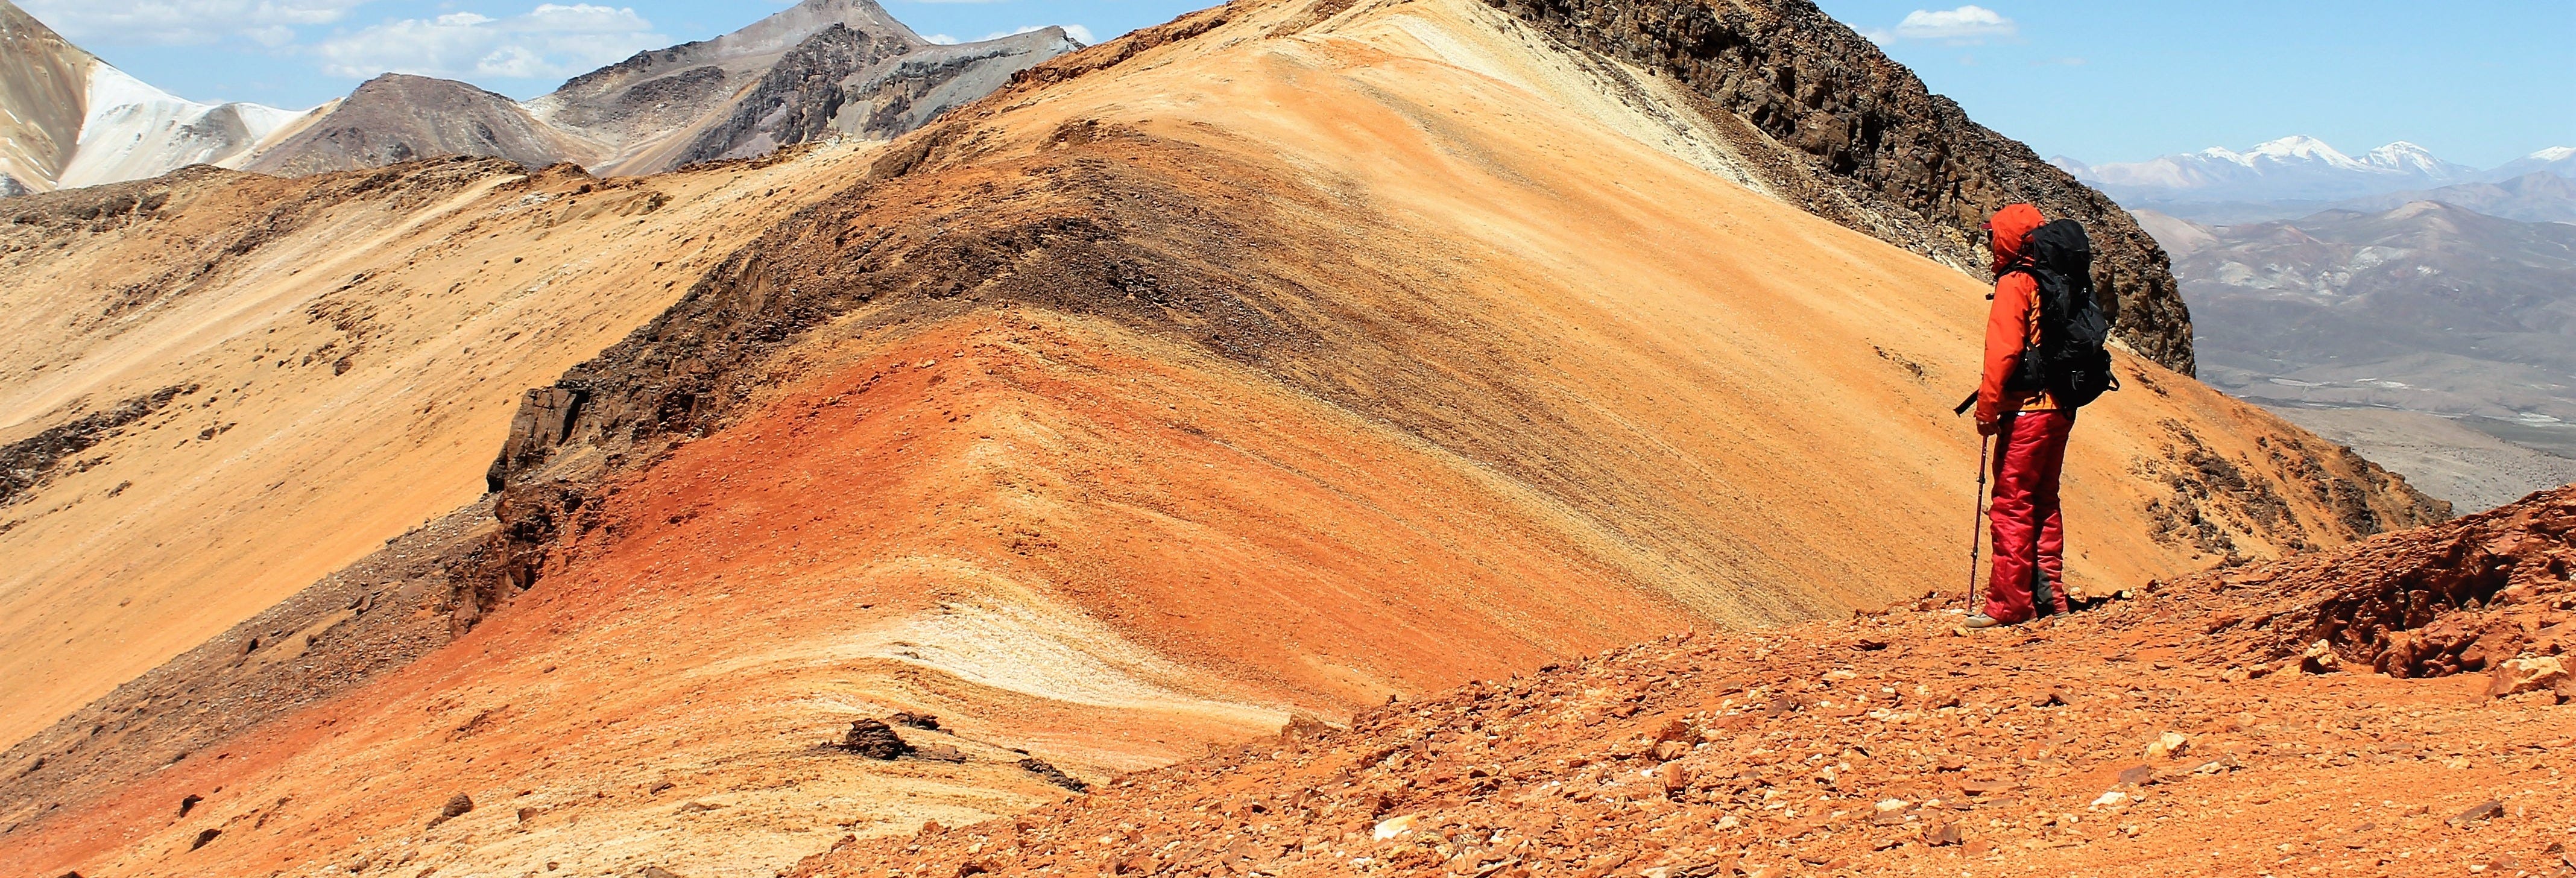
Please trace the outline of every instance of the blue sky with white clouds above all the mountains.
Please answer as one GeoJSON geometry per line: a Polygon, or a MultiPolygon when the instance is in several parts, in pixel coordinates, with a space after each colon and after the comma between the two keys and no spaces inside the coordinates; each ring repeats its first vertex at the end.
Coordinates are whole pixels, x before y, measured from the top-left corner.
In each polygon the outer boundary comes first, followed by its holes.
{"type": "MultiPolygon", "coordinates": [[[[528,98],[639,49],[716,36],[786,0],[18,0],[116,67],[193,100],[304,108],[384,70],[528,98]]],[[[1208,0],[884,0],[925,36],[1074,26],[1092,39],[1208,0]]],[[[1819,0],[2040,154],[2143,160],[2311,134],[2463,165],[2576,147],[2576,3],[1819,0]]]]}

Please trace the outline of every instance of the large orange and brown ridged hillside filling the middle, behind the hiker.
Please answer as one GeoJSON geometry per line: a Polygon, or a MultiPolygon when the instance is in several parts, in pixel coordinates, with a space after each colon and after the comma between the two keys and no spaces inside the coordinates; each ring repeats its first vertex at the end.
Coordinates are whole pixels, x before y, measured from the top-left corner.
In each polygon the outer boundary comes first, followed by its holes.
{"type": "MultiPolygon", "coordinates": [[[[487,404],[482,456],[402,484],[461,507],[505,448],[502,536],[448,564],[471,631],[240,734],[178,713],[258,716],[211,672],[93,705],[137,747],[13,749],[98,770],[0,785],[0,863],[768,875],[1061,796],[1020,760],[1097,783],[1955,587],[1984,286],[1736,183],[1721,121],[1620,70],[1463,0],[1244,3],[866,157],[647,178],[688,191],[636,250],[513,242],[621,265],[567,309],[693,286],[510,430],[497,399],[549,378],[446,389],[487,404]],[[659,268],[672,239],[706,260],[659,268]],[[894,711],[940,716],[920,754],[822,747],[894,711]]],[[[2439,515],[2187,376],[2123,378],[2069,469],[2092,592],[2439,515]]]]}

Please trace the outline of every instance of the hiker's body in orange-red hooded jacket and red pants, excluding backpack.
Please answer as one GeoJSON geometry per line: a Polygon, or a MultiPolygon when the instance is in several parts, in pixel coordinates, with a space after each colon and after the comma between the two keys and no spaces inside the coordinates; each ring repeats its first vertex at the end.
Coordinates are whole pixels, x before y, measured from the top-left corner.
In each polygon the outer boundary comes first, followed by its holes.
{"type": "Polygon", "coordinates": [[[2032,584],[2043,584],[2048,610],[2066,613],[2066,518],[2058,512],[2058,471],[2076,412],[2045,389],[2009,391],[2004,378],[2040,332],[2040,283],[2030,278],[2022,245],[2043,227],[2040,209],[2012,203],[1986,221],[1994,250],[1994,306],[1986,312],[1986,378],[1976,386],[1976,433],[1994,438],[1994,569],[1986,610],[1968,628],[2012,626],[2040,615],[2032,584]]]}

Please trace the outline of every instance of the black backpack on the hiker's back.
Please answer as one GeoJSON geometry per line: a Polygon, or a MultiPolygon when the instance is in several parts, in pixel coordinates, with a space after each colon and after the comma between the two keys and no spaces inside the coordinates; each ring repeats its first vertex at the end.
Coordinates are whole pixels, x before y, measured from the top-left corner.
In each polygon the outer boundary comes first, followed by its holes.
{"type": "Polygon", "coordinates": [[[2084,224],[2058,219],[2030,232],[2022,263],[2004,268],[2027,273],[2040,291],[2040,337],[2022,348],[2022,363],[2004,389],[2048,389],[2058,404],[2084,407],[2102,391],[2120,389],[2110,373],[2110,319],[2092,288],[2092,239],[2084,224]]]}

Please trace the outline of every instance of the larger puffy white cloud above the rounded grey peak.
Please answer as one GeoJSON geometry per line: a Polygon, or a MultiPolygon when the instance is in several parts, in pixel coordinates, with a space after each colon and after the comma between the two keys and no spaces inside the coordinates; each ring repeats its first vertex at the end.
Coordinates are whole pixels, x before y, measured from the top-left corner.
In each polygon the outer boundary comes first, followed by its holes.
{"type": "Polygon", "coordinates": [[[572,77],[667,46],[634,8],[541,3],[526,15],[448,13],[340,33],[319,46],[322,70],[343,77],[410,72],[425,77],[572,77]]]}

